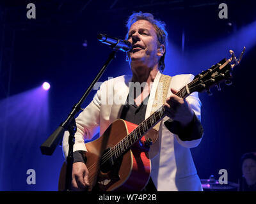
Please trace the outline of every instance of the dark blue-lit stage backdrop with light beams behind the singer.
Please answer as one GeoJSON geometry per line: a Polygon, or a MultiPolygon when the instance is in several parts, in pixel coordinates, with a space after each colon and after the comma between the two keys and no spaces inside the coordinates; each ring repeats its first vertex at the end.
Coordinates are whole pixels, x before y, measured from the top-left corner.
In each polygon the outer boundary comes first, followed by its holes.
{"type": "MultiPolygon", "coordinates": [[[[125,22],[133,11],[150,12],[166,22],[164,74],[197,75],[230,57],[228,50],[239,56],[246,46],[243,61],[233,72],[234,83],[221,84],[220,92],[212,89],[213,96],[200,94],[205,132],[200,145],[191,149],[200,179],[218,179],[219,170],[226,169],[228,180],[237,182],[240,157],[256,151],[253,1],[56,0],[0,5],[1,191],[58,190],[61,147],[52,156],[42,155],[39,147],[67,117],[111,52],[97,34],[124,39],[125,22]],[[36,5],[35,19],[26,17],[28,3],[36,5]],[[220,3],[228,5],[227,19],[218,17],[220,3]],[[51,89],[40,95],[36,87],[45,81],[51,89]],[[28,169],[36,171],[35,185],[26,183],[28,169]]],[[[124,74],[131,70],[125,54],[118,52],[100,82],[124,74]]]]}

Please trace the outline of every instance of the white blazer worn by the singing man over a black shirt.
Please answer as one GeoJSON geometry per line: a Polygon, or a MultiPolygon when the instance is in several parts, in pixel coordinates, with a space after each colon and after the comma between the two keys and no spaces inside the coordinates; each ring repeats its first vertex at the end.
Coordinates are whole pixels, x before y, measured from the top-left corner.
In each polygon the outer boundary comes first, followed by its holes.
{"type": "MultiPolygon", "coordinates": [[[[129,94],[131,77],[131,75],[124,75],[111,78],[100,85],[92,102],[76,118],[77,132],[74,151],[86,150],[84,140],[91,140],[97,133],[98,127],[102,135],[118,118],[121,106],[125,104],[129,94]]],[[[160,77],[161,73],[158,72],[150,91],[145,119],[150,116],[160,77]]],[[[193,80],[193,75],[176,75],[172,77],[170,87],[179,90],[191,80],[193,80]]],[[[170,87],[168,96],[172,94],[170,87]]],[[[198,92],[193,92],[186,99],[200,119],[201,102],[198,92]]],[[[164,117],[159,128],[159,154],[151,159],[151,177],[157,191],[202,191],[202,185],[189,150],[189,148],[196,147],[201,138],[192,141],[180,140],[179,136],[171,133],[163,124],[168,119],[164,117]]],[[[68,132],[65,132],[63,137],[63,154],[67,158],[68,132]]]]}

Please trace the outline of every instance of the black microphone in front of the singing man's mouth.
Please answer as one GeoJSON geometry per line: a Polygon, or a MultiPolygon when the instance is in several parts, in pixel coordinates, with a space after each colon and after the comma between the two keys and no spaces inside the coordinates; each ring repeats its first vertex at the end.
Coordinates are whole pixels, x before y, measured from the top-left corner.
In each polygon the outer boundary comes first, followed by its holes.
{"type": "Polygon", "coordinates": [[[97,38],[99,41],[102,41],[102,43],[110,45],[116,50],[122,50],[123,52],[132,50],[132,44],[128,40],[119,40],[118,38],[107,36],[106,34],[98,34],[97,38]]]}

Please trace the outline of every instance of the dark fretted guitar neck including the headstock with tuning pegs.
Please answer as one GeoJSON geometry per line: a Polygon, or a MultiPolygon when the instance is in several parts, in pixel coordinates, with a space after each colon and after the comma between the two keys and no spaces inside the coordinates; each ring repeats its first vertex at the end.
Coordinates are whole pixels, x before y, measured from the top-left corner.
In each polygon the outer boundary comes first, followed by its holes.
{"type": "MultiPolygon", "coordinates": [[[[245,49],[245,48],[244,48],[245,49]]],[[[244,52],[244,50],[243,50],[244,52]]],[[[241,55],[243,55],[243,52],[241,55]]],[[[236,66],[231,65],[230,62],[233,60],[234,56],[230,58],[228,61],[226,59],[222,59],[218,64],[214,64],[211,68],[202,71],[199,75],[196,75],[195,78],[189,84],[186,84],[182,89],[180,89],[175,95],[180,98],[186,98],[192,92],[203,92],[207,91],[209,94],[210,88],[214,85],[219,86],[223,80],[229,80],[232,77],[231,69],[236,66]]],[[[241,56],[237,64],[241,61],[241,56]]],[[[229,82],[227,81],[227,84],[229,82]]],[[[143,120],[137,128],[135,128],[129,135],[125,136],[120,142],[118,142],[114,147],[111,148],[111,152],[113,152],[113,156],[118,158],[124,152],[129,150],[134,143],[138,142],[140,138],[145,135],[151,128],[156,126],[156,124],[163,119],[165,116],[164,106],[161,106],[156,112],[152,113],[150,117],[146,120],[143,120]]],[[[115,158],[114,157],[114,158],[115,158]]]]}

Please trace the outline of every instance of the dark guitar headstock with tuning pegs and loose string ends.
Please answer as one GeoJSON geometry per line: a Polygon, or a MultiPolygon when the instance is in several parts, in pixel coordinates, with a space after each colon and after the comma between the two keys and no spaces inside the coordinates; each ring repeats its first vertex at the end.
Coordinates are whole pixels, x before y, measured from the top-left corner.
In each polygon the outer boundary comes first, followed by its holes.
{"type": "Polygon", "coordinates": [[[244,50],[245,47],[243,48],[238,60],[234,52],[230,50],[229,52],[232,55],[230,59],[223,59],[219,63],[212,65],[210,69],[202,71],[202,73],[196,75],[194,80],[186,87],[186,91],[188,92],[187,94],[195,91],[207,91],[207,93],[211,95],[211,87],[217,86],[218,91],[220,91],[220,84],[222,82],[225,82],[227,85],[231,85],[232,82],[230,79],[232,78],[232,70],[241,62],[244,50]]]}

